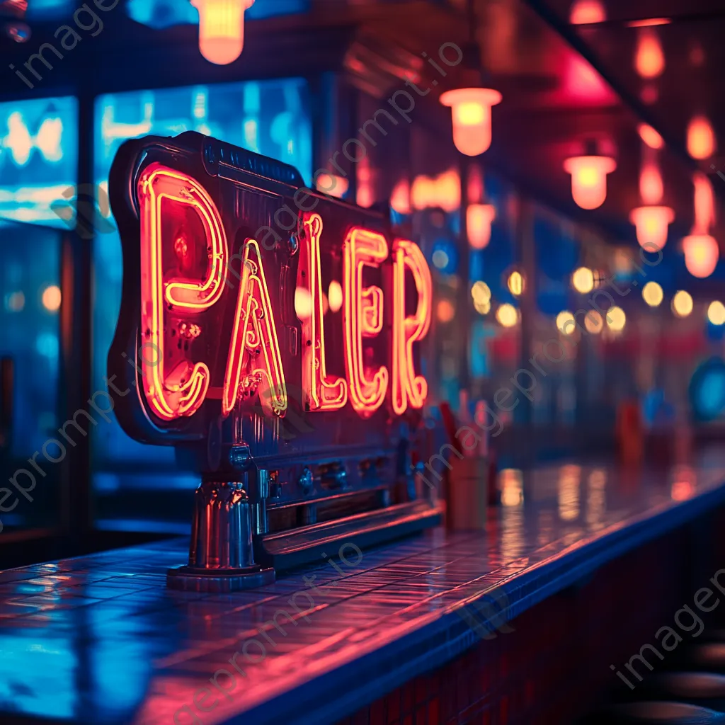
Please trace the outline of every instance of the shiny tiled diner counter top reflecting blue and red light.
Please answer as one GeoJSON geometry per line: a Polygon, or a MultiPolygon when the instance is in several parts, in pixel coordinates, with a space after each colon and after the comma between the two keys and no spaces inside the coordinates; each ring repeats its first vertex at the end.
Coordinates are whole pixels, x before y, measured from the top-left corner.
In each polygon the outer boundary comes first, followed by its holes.
{"type": "Polygon", "coordinates": [[[722,505],[723,463],[502,471],[485,531],[351,541],[247,592],[167,589],[186,539],[4,571],[0,721],[335,723],[722,505]]]}

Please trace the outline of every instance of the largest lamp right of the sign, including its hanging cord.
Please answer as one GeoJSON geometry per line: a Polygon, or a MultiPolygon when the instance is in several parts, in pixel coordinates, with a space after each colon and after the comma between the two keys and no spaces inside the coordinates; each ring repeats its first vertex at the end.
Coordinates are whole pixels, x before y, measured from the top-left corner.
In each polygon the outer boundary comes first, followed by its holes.
{"type": "Polygon", "coordinates": [[[468,0],[469,41],[463,54],[466,75],[471,86],[441,94],[440,101],[451,109],[453,143],[466,156],[483,154],[491,146],[491,107],[500,104],[503,96],[493,88],[481,86],[481,57],[476,42],[476,11],[474,0],[468,0]]]}

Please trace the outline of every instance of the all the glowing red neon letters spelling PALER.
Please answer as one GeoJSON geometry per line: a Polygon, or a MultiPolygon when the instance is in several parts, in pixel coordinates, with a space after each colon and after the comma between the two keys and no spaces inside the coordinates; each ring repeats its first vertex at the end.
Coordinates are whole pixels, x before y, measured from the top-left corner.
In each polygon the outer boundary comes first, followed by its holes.
{"type": "Polygon", "coordinates": [[[337,227],[328,226],[322,214],[307,212],[291,261],[263,257],[257,239],[241,232],[241,250],[230,257],[235,230],[225,231],[214,200],[191,175],[152,162],[136,192],[141,340],[157,353],[157,360],[141,361],[143,392],[161,421],[194,415],[205,399],[220,399],[226,417],[257,394],[265,415],[283,417],[284,366],[295,357],[301,374],[290,379],[301,380],[310,412],[339,410],[348,401],[362,418],[386,400],[395,415],[423,407],[428,385],[416,373],[413,350],[430,327],[432,283],[412,241],[389,244],[380,231],[341,226],[339,218],[337,227]],[[326,282],[341,290],[335,307],[323,294],[321,249],[341,266],[334,274],[340,283],[326,282]],[[226,284],[234,260],[241,262],[238,291],[226,284]],[[288,298],[300,293],[304,313],[290,320],[288,298]],[[325,319],[340,309],[341,318],[325,319]]]}

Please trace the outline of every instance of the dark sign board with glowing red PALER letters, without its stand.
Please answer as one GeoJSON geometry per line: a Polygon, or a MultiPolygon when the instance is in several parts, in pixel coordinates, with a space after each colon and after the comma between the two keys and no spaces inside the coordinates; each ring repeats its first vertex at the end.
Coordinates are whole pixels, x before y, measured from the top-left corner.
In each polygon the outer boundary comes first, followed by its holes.
{"type": "Polygon", "coordinates": [[[117,409],[131,435],[178,444],[260,410],[390,422],[423,407],[431,274],[382,215],[197,133],[128,141],[110,192],[125,279],[109,370],[136,385],[117,409]]]}

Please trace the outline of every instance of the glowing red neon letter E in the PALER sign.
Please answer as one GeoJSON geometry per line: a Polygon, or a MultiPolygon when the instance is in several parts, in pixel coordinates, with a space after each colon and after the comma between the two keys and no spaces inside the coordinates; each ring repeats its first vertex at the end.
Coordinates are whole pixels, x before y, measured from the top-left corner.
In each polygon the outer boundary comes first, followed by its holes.
{"type": "Polygon", "coordinates": [[[378,368],[372,376],[366,369],[363,337],[370,336],[377,320],[383,319],[383,291],[363,286],[363,269],[378,268],[388,256],[382,234],[353,228],[343,248],[345,365],[352,407],[363,417],[374,413],[385,399],[389,371],[378,368]]]}

